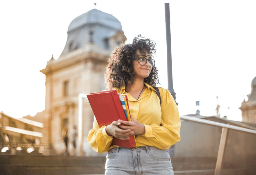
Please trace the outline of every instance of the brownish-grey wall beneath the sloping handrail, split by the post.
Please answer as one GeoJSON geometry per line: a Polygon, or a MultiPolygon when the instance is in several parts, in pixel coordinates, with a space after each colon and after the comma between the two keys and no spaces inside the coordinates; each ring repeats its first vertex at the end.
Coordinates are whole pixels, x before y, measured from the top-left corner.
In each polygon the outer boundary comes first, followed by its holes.
{"type": "MultiPolygon", "coordinates": [[[[181,122],[181,141],[174,157],[217,157],[222,128],[191,121],[181,122]]],[[[223,163],[226,168],[256,172],[256,135],[229,129],[223,163]]]]}

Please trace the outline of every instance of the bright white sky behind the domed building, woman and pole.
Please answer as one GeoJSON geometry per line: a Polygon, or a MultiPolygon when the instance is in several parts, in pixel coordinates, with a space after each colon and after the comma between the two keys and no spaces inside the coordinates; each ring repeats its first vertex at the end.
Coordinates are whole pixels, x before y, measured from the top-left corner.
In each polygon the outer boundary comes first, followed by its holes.
{"type": "MultiPolygon", "coordinates": [[[[218,96],[221,116],[240,121],[238,108],[256,76],[256,1],[169,3],[173,88],[180,115],[197,109],[201,115],[216,115],[218,96]]],[[[159,86],[168,88],[163,3],[1,1],[0,111],[22,117],[45,109],[45,75],[39,70],[52,54],[59,58],[70,22],[95,8],[121,22],[127,43],[139,34],[156,41],[159,86]]]]}

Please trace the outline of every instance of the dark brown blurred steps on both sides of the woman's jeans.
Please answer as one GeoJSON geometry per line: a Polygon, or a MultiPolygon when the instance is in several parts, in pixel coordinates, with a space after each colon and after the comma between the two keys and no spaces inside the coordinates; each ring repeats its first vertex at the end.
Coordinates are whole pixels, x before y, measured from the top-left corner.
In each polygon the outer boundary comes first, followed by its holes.
{"type": "MultiPolygon", "coordinates": [[[[216,158],[172,158],[175,175],[214,175],[216,158]]],[[[0,155],[1,175],[85,175],[105,172],[105,157],[0,155]]],[[[223,165],[222,175],[246,175],[223,165]]]]}

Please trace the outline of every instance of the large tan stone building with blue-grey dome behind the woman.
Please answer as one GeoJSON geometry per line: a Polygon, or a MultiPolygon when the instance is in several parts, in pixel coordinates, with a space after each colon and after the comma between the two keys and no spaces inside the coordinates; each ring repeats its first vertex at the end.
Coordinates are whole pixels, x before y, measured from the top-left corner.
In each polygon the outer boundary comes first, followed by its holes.
{"type": "MultiPolygon", "coordinates": [[[[61,133],[64,126],[70,131],[78,126],[79,93],[89,94],[105,89],[104,74],[111,51],[126,37],[121,23],[112,15],[93,9],[76,17],[67,30],[67,41],[60,57],[53,57],[45,69],[45,110],[33,118],[44,123],[43,142],[50,143],[57,153],[64,151],[61,133]],[[36,119],[37,118],[37,119],[36,119]]],[[[94,114],[89,102],[83,100],[83,155],[96,154],[87,142],[94,114]]],[[[71,133],[69,150],[72,149],[71,133]]],[[[76,150],[79,153],[79,150],[76,150]]]]}

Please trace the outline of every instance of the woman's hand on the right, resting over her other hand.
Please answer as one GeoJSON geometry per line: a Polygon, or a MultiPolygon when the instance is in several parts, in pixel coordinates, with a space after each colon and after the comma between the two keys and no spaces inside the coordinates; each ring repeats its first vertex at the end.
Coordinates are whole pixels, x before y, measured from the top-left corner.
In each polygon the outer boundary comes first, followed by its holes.
{"type": "Polygon", "coordinates": [[[130,129],[132,132],[134,132],[135,135],[145,134],[144,124],[138,122],[135,118],[131,118],[131,120],[132,121],[118,120],[118,122],[120,122],[121,124],[127,125],[127,126],[119,125],[119,127],[122,128],[123,130],[129,130],[130,129]]]}

